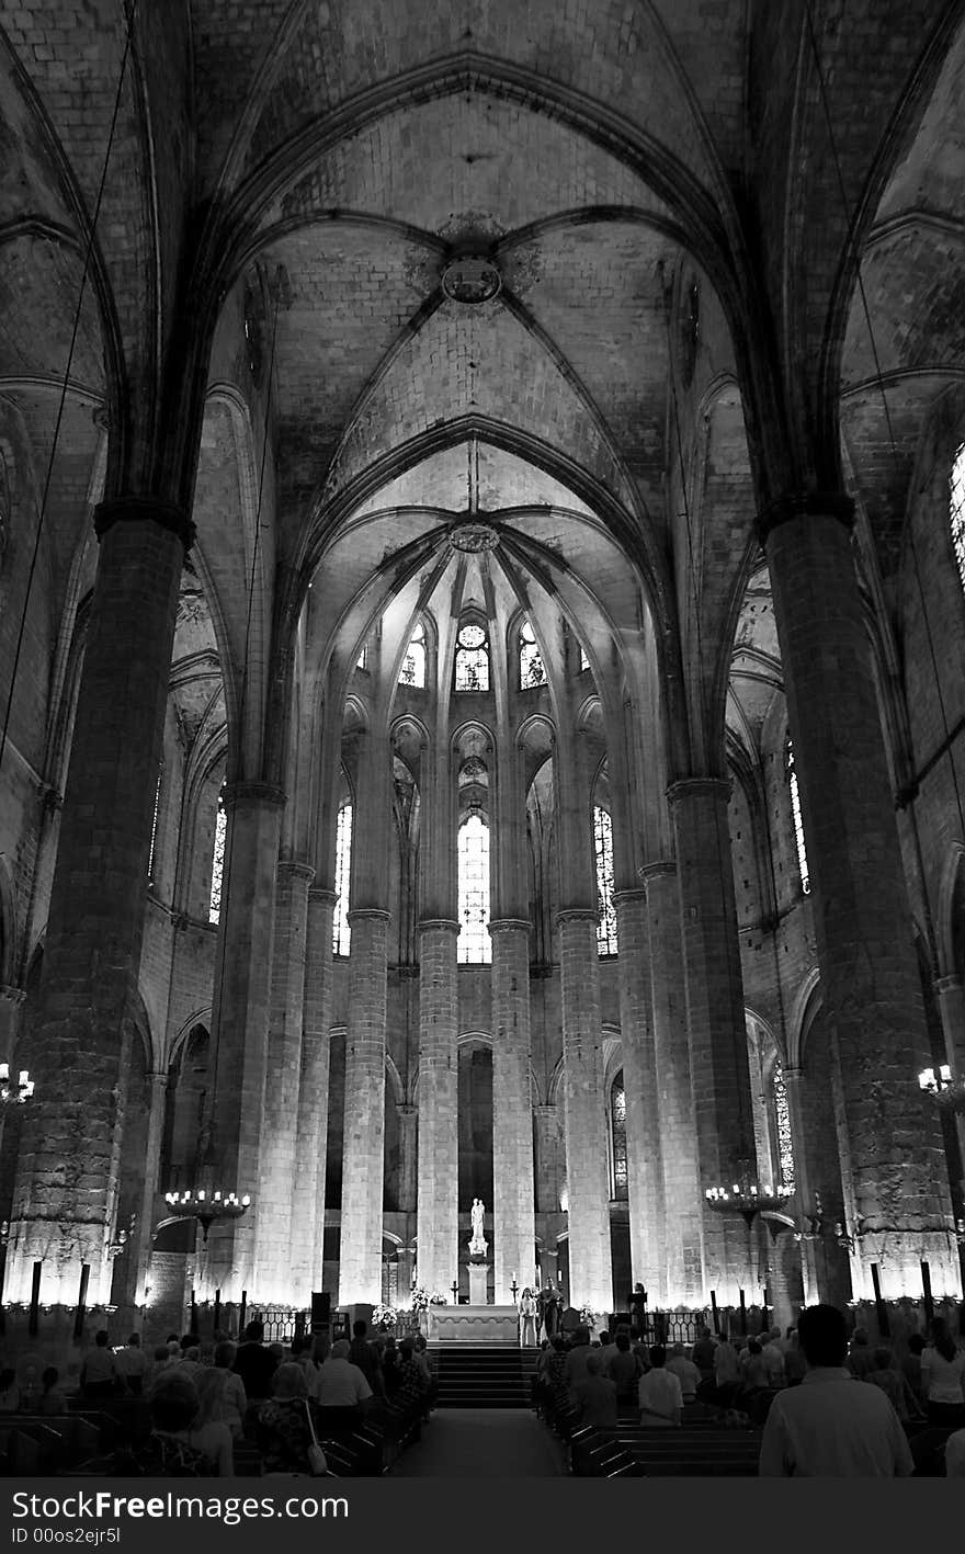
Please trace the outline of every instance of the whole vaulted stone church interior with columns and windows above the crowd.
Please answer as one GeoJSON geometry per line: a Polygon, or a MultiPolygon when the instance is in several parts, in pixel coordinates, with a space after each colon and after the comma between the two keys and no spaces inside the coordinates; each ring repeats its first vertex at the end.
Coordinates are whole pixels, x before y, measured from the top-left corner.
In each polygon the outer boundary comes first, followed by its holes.
{"type": "Polygon", "coordinates": [[[960,1293],[960,6],[126,19],[0,3],[6,1299],[960,1293]]]}

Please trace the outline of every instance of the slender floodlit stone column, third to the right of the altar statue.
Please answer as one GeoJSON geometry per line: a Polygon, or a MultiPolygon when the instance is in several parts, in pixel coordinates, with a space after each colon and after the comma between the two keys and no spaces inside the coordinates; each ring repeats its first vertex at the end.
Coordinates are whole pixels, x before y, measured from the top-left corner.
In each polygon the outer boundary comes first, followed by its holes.
{"type": "MultiPolygon", "coordinates": [[[[646,892],[617,890],[620,1037],[626,1094],[626,1197],[634,1284],[654,1293],[667,1265],[664,1167],[650,985],[646,892]]],[[[623,1291],[628,1293],[628,1291],[623,1291]]],[[[617,1304],[620,1304],[617,1291],[617,1304]]]]}

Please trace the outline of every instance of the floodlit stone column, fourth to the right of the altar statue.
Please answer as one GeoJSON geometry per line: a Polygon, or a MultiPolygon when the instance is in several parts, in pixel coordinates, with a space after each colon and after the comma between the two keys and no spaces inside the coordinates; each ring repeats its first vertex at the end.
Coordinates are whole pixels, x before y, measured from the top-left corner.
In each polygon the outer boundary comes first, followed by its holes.
{"type": "Polygon", "coordinates": [[[665,1273],[657,1280],[656,1296],[667,1305],[705,1305],[710,1285],[704,1276],[704,1187],[687,1040],[676,864],[645,864],[640,878],[646,890],[654,1075],[664,1169],[665,1273]]]}

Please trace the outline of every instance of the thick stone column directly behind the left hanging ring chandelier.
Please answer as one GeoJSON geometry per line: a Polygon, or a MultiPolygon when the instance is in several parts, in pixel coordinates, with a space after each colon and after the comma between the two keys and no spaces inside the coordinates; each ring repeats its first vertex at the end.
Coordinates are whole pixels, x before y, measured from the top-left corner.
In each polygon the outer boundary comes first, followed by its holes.
{"type": "Polygon", "coordinates": [[[199,1299],[253,1294],[260,1214],[261,1139],[266,1099],[275,883],[284,793],[272,783],[233,782],[227,816],[221,922],[211,1004],[211,1094],[199,1172],[207,1192],[249,1193],[242,1218],[216,1221],[199,1259],[199,1299]]]}

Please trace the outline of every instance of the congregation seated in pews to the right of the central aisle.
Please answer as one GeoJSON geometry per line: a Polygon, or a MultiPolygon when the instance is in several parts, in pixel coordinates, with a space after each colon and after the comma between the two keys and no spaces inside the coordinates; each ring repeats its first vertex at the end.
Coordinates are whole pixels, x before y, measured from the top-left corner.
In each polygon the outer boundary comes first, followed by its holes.
{"type": "MultiPolygon", "coordinates": [[[[580,1326],[542,1340],[533,1403],[564,1439],[581,1436],[584,1444],[589,1431],[625,1444],[651,1430],[752,1431],[760,1473],[777,1476],[817,1472],[788,1442],[808,1428],[830,1436],[833,1413],[839,1476],[965,1476],[965,1347],[934,1319],[928,1336],[912,1335],[901,1350],[872,1344],[861,1327],[848,1338],[844,1313],[827,1305],[808,1308],[783,1333],[772,1327],[732,1336],[701,1327],[693,1344],[645,1343],[629,1324],[598,1336],[580,1326]],[[777,1405],[796,1389],[794,1406],[777,1405]],[[858,1445],[847,1441],[852,1416],[858,1445]]],[[[657,1456],[667,1461],[664,1447],[657,1456]]]]}

